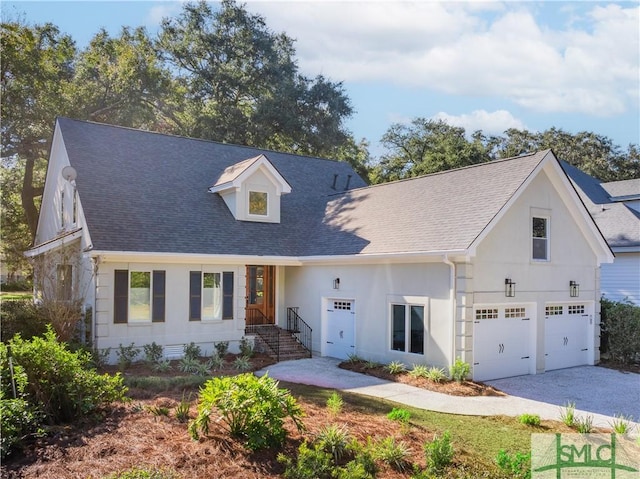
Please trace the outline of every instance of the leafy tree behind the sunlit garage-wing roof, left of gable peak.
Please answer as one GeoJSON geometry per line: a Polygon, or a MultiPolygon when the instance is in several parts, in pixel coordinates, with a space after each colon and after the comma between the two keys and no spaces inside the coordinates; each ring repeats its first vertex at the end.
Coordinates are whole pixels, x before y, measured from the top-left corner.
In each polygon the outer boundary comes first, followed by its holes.
{"type": "Polygon", "coordinates": [[[382,137],[389,152],[374,168],[375,183],[475,165],[491,159],[480,132],[472,142],[464,128],[442,120],[416,118],[410,125],[396,123],[382,137]]]}

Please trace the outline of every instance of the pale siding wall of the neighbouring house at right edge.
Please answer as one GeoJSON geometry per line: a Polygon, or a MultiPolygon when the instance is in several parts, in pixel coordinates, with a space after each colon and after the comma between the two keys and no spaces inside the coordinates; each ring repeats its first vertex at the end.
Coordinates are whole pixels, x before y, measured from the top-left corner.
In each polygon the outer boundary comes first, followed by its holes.
{"type": "Polygon", "coordinates": [[[640,306],[640,253],[616,253],[611,264],[603,264],[602,295],[612,301],[629,301],[640,306]]]}

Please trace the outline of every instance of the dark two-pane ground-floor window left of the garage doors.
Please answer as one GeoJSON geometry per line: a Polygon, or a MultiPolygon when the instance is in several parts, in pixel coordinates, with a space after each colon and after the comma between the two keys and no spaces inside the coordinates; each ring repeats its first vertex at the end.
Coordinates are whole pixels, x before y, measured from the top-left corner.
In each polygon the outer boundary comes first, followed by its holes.
{"type": "Polygon", "coordinates": [[[424,354],[424,306],[391,305],[391,349],[424,354]]]}

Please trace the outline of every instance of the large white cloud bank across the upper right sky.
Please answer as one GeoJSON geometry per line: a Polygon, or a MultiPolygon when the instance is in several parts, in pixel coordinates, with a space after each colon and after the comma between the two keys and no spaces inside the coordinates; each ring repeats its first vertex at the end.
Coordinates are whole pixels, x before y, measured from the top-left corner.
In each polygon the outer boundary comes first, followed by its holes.
{"type": "Polygon", "coordinates": [[[640,7],[566,5],[271,1],[247,8],[296,39],[309,75],[500,97],[538,112],[606,117],[637,108],[640,7]]]}

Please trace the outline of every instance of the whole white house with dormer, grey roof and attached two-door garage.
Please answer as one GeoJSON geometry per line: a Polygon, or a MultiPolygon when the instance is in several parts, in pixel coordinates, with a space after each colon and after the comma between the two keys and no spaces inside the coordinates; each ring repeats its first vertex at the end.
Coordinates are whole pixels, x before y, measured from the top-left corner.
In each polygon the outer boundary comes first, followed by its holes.
{"type": "Polygon", "coordinates": [[[64,118],[27,255],[101,350],[237,350],[271,323],[477,380],[596,363],[613,261],[551,150],[367,187],[344,162],[64,118]]]}

